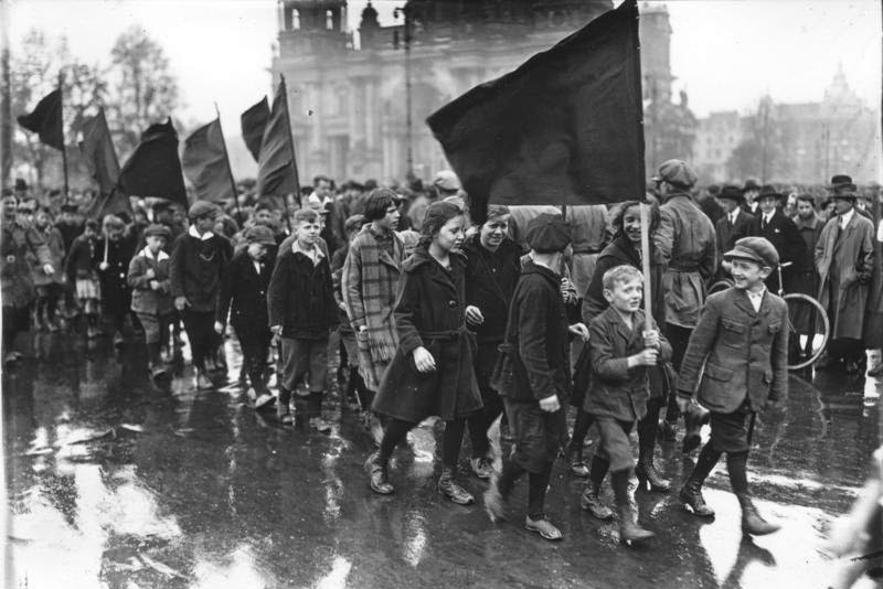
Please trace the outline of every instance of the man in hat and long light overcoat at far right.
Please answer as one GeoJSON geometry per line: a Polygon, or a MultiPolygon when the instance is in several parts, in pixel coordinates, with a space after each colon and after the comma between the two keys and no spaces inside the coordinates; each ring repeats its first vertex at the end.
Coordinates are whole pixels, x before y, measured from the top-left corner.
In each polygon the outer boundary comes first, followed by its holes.
{"type": "Polygon", "coordinates": [[[822,367],[858,372],[864,357],[862,335],[874,267],[874,225],[855,212],[857,188],[850,176],[833,176],[828,190],[837,216],[826,223],[816,244],[818,299],[832,325],[829,360],[822,367]]]}

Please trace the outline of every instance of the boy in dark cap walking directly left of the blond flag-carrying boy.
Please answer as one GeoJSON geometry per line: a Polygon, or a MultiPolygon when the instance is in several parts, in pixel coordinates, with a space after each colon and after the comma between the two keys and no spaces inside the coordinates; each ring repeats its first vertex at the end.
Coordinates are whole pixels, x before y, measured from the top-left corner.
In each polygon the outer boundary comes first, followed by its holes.
{"type": "MultiPolygon", "coordinates": [[[[588,331],[568,319],[561,297],[561,258],[571,243],[571,226],[560,215],[541,214],[528,224],[531,248],[509,308],[509,320],[493,384],[503,397],[512,453],[494,473],[485,493],[491,521],[502,518],[515,481],[529,473],[528,517],[524,526],[549,540],[561,531],[545,517],[545,493],[552,464],[566,437],[564,407],[571,394],[570,339],[584,342],[588,331]]],[[[578,308],[570,309],[578,317],[578,308]]]]}

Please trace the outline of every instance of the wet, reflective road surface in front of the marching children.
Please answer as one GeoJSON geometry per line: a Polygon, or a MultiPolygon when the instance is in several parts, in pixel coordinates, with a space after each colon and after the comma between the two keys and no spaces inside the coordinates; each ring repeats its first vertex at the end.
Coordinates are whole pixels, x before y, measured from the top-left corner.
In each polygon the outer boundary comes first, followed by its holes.
{"type": "MultiPolygon", "coordinates": [[[[787,414],[757,426],[748,462],[778,534],[742,538],[722,460],[705,491],[713,523],[677,493],[638,492],[657,537],[621,546],[615,523],[579,508],[583,482],[558,461],[547,512],[564,542],[551,544],[522,527],[526,481],[500,524],[481,507],[482,481],[462,475],[470,507],[437,494],[437,426],[397,450],[396,494],[382,497],[362,471],[371,439],[337,392],[321,435],[260,417],[225,377],[195,392],[189,365],[158,392],[134,343],[116,357],[105,340],[87,349],[62,334],[19,349],[29,357],[3,377],[9,588],[822,587],[826,531],[879,443],[879,383],[792,377],[787,414]]],[[[468,456],[466,441],[464,473],[468,456]]],[[[678,489],[692,461],[670,442],[657,465],[678,489]]]]}

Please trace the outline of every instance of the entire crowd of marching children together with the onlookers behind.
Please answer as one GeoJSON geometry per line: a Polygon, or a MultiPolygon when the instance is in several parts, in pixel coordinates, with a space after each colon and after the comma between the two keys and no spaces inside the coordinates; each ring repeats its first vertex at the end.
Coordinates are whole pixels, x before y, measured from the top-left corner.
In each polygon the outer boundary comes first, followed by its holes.
{"type": "Polygon", "coordinates": [[[62,319],[88,339],[109,333],[123,346],[128,318],[157,387],[168,386],[185,335],[193,386],[211,389],[226,367],[224,338],[235,335],[240,383],[255,409],[275,407],[283,426],[297,420],[327,432],[333,335],[343,397],[375,435],[365,463],[375,493],[395,492],[396,447],[437,417],[445,422],[439,492],[475,502],[458,471],[468,431],[469,470],[489,480],[491,518],[506,515],[526,474],[525,526],[553,540],[562,535],[544,502],[561,452],[568,471],[587,479],[583,508],[615,517],[603,499],[609,480],[620,537],[651,537],[637,522],[629,481],[635,474],[641,486],[669,491],[653,454],[658,438],[674,439],[683,415],[685,451],[700,445],[696,425],[710,422],[711,438],[681,502],[713,516],[702,483],[726,454],[743,531],[768,534],[778,526],[754,507],[746,462],[755,416],[787,396],[789,318],[777,293],[817,296],[832,320],[825,366],[859,371],[864,349],[879,345],[865,317],[880,304],[870,289],[881,236],[845,175],[827,188],[833,212],[808,192],[753,181],[698,197],[696,180],[689,164],[670,160],[642,201],[568,207],[566,218],[555,207],[490,205],[479,225],[449,171],[426,188],[348,182],[336,191],[317,176],[288,215],[273,200],[244,195],[235,205],[196,201],[187,211],[155,202],[149,214],[136,207],[99,223],[70,204],[55,218],[26,188],[8,190],[3,357],[14,366],[17,333],[57,331],[62,319]],[[776,270],[786,261],[779,285],[776,270]],[[733,287],[706,297],[721,279],[733,287]],[[501,416],[511,451],[494,469],[489,432],[501,416]],[[593,425],[600,441],[586,462],[593,425]]]}

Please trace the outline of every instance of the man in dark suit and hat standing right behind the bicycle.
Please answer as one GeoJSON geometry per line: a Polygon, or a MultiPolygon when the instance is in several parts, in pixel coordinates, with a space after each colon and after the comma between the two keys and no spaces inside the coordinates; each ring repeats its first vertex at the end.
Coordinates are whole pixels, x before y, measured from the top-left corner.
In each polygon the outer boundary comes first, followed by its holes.
{"type": "MultiPolygon", "coordinates": [[[[796,288],[796,277],[798,266],[801,265],[804,256],[804,238],[797,231],[794,221],[781,212],[780,205],[785,195],[777,191],[775,186],[765,184],[760,188],[757,195],[757,211],[759,212],[760,231],[757,234],[766,238],[779,254],[779,264],[788,264],[781,269],[781,281],[786,291],[796,288]]],[[[772,292],[779,292],[779,277],[776,268],[769,272],[766,286],[772,292]]]]}

